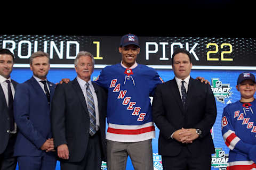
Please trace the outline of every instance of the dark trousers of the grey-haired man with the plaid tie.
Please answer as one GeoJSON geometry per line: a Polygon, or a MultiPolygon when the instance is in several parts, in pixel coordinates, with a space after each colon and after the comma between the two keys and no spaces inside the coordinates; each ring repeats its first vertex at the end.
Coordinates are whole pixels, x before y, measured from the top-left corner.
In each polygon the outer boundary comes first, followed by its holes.
{"type": "Polygon", "coordinates": [[[100,170],[102,154],[101,148],[100,132],[97,131],[97,133],[92,137],[89,137],[83,160],[76,163],[61,162],[61,170],[100,170]]]}

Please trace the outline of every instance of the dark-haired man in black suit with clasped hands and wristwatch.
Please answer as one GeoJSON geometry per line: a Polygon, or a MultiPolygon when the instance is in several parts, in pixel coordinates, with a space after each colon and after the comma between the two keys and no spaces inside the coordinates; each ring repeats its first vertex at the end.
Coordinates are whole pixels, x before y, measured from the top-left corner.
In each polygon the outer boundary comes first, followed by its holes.
{"type": "Polygon", "coordinates": [[[153,99],[153,120],[160,130],[158,152],[164,169],[211,169],[215,152],[211,128],[217,116],[209,84],[190,77],[190,53],[172,56],[173,80],[160,84],[153,99]]]}

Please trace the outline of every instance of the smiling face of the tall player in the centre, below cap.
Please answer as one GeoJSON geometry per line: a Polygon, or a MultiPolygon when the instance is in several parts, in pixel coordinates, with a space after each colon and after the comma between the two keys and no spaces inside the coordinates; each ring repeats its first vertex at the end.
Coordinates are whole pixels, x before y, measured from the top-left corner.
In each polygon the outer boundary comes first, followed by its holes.
{"type": "Polygon", "coordinates": [[[125,47],[119,47],[119,53],[122,55],[122,63],[126,67],[131,67],[140,53],[140,48],[136,45],[127,45],[125,47]]]}

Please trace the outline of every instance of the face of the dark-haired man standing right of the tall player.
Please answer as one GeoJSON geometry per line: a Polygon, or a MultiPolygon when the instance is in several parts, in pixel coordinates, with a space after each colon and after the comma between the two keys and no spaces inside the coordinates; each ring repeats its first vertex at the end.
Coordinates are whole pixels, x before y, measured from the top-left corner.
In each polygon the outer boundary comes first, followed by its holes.
{"type": "Polygon", "coordinates": [[[192,63],[190,62],[187,54],[178,53],[175,56],[173,56],[172,67],[175,76],[179,79],[184,80],[190,74],[192,63]]]}

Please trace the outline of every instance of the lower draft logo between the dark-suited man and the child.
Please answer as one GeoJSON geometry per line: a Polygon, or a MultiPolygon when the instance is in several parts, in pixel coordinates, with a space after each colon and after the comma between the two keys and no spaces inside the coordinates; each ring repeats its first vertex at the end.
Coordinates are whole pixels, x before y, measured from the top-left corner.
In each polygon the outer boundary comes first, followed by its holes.
{"type": "Polygon", "coordinates": [[[228,165],[228,154],[222,148],[215,148],[216,154],[212,156],[212,167],[226,170],[228,165]]]}

